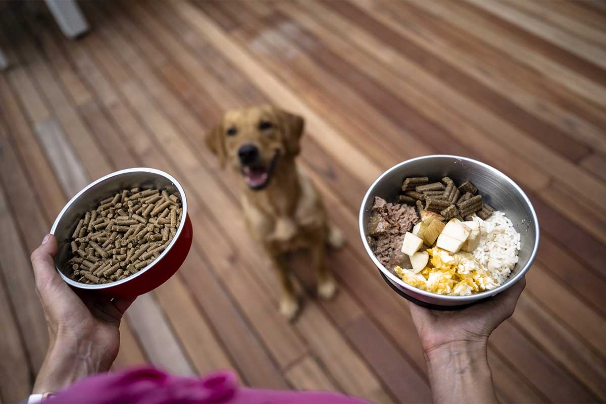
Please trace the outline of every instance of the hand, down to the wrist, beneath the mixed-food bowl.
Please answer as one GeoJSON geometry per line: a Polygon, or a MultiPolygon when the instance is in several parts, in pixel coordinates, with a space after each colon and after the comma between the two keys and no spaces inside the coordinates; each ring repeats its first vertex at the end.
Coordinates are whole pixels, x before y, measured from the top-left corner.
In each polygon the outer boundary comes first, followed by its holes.
{"type": "Polygon", "coordinates": [[[457,311],[430,310],[410,303],[410,313],[425,354],[453,343],[485,346],[494,329],[513,314],[525,286],[526,280],[522,277],[492,299],[457,311]]]}

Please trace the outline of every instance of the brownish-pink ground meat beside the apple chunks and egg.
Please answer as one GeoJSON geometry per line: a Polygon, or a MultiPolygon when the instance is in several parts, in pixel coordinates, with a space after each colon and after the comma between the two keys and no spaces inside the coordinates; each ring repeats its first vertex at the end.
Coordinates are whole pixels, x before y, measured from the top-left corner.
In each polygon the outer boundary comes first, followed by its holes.
{"type": "Polygon", "coordinates": [[[415,208],[405,204],[391,204],[381,197],[375,196],[373,216],[368,224],[368,241],[377,259],[392,269],[399,265],[399,254],[404,241],[404,234],[418,222],[419,216],[415,208]]]}

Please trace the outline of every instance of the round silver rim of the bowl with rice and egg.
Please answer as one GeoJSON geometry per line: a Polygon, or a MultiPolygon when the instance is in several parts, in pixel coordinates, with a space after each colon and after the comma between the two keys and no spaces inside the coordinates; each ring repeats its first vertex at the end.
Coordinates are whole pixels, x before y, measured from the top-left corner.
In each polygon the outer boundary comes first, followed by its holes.
{"type": "Polygon", "coordinates": [[[521,187],[519,187],[518,184],[516,184],[516,182],[514,180],[512,180],[510,177],[508,177],[501,171],[497,170],[496,168],[492,167],[491,165],[485,164],[478,160],[470,159],[469,157],[454,156],[452,154],[429,154],[427,156],[415,157],[413,159],[408,159],[406,161],[402,161],[398,164],[395,164],[395,165],[391,166],[390,168],[388,168],[387,170],[383,171],[383,173],[381,173],[373,181],[373,183],[370,185],[370,187],[368,187],[368,190],[364,194],[364,198],[362,198],[362,204],[360,205],[360,210],[358,213],[358,228],[359,228],[359,232],[360,232],[360,237],[362,239],[362,244],[364,245],[366,253],[370,257],[370,259],[373,260],[373,263],[375,263],[375,266],[378,268],[378,270],[381,271],[382,273],[384,273],[385,276],[387,276],[388,279],[391,280],[391,282],[396,283],[397,285],[401,286],[401,288],[405,288],[406,290],[409,290],[409,291],[419,294],[421,296],[429,297],[431,299],[444,299],[445,301],[448,301],[450,303],[455,303],[455,302],[468,303],[468,302],[484,299],[485,297],[494,296],[494,295],[506,290],[514,283],[518,282],[518,280],[521,279],[521,277],[523,277],[527,273],[527,271],[530,269],[530,267],[533,265],[534,259],[536,258],[536,254],[538,253],[538,250],[539,250],[539,242],[541,239],[541,237],[540,237],[541,229],[539,228],[539,219],[536,215],[536,211],[534,211],[534,206],[533,206],[532,202],[530,202],[530,199],[528,198],[526,193],[522,190],[521,187]],[[381,182],[381,180],[384,177],[386,177],[388,174],[390,174],[392,171],[398,170],[398,168],[400,168],[404,165],[410,164],[411,162],[415,162],[415,161],[419,161],[419,160],[426,160],[426,159],[444,158],[444,157],[449,158],[449,159],[456,159],[458,161],[466,161],[466,162],[470,162],[472,164],[481,165],[482,167],[487,168],[490,171],[493,171],[493,173],[495,173],[498,177],[501,177],[501,179],[503,179],[503,180],[509,182],[511,185],[513,185],[515,190],[518,191],[518,193],[522,196],[522,199],[524,199],[524,201],[530,208],[530,213],[532,214],[534,230],[536,231],[536,236],[534,237],[533,251],[530,253],[530,257],[528,257],[528,261],[526,262],[526,264],[524,265],[524,268],[522,268],[521,271],[519,271],[515,276],[510,277],[507,280],[505,280],[505,283],[503,283],[501,286],[498,286],[497,288],[494,288],[492,290],[487,290],[487,291],[480,292],[480,293],[474,293],[474,294],[470,294],[468,296],[450,296],[450,295],[446,295],[446,294],[432,293],[432,292],[421,290],[419,288],[415,288],[415,286],[408,285],[408,283],[404,282],[404,280],[400,279],[399,277],[397,277],[393,273],[391,273],[391,271],[387,270],[387,268],[385,268],[384,265],[381,262],[379,262],[377,257],[375,257],[375,254],[373,254],[373,251],[371,250],[370,245],[368,245],[368,241],[366,240],[366,236],[364,234],[365,223],[364,223],[364,219],[363,219],[364,207],[367,204],[368,198],[370,198],[371,196],[374,196],[372,194],[373,194],[373,191],[375,190],[376,185],[378,185],[379,182],[381,182]]]}

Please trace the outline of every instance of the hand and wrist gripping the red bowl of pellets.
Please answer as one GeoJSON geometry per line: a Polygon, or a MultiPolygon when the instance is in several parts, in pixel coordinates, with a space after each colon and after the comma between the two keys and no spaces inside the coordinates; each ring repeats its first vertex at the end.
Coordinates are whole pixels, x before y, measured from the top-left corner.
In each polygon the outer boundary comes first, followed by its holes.
{"type": "Polygon", "coordinates": [[[50,345],[34,392],[57,391],[108,371],[118,355],[120,320],[133,300],[109,299],[70,288],[55,270],[55,236],[47,234],[31,260],[50,345]]]}

